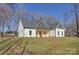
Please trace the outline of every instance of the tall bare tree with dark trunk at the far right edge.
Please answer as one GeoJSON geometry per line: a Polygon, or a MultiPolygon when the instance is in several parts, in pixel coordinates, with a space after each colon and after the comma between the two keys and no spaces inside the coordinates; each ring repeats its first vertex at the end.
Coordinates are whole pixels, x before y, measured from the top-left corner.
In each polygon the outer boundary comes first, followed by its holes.
{"type": "MultiPolygon", "coordinates": [[[[70,10],[70,15],[69,15],[69,17],[71,17],[73,19],[72,19],[71,23],[67,25],[67,27],[69,27],[69,29],[71,29],[71,33],[73,33],[73,35],[76,35],[77,37],[79,37],[79,24],[78,24],[79,12],[78,11],[79,11],[78,4],[73,4],[73,9],[70,10]]],[[[66,19],[66,17],[65,17],[65,19],[66,19]]]]}

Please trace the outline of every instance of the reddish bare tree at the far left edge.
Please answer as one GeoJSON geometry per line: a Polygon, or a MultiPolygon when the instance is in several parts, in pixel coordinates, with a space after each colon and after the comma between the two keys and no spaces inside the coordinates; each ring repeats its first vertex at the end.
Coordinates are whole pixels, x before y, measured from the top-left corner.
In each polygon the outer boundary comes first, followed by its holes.
{"type": "Polygon", "coordinates": [[[11,16],[10,8],[5,4],[0,5],[0,20],[1,20],[1,25],[2,25],[1,26],[2,27],[2,38],[4,36],[5,24],[6,24],[7,21],[10,20],[10,16],[11,16]]]}

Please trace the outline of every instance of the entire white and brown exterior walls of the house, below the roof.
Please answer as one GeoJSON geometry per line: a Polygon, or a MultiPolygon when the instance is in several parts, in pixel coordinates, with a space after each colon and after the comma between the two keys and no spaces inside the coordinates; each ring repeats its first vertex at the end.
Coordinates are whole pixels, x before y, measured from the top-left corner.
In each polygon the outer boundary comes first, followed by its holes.
{"type": "Polygon", "coordinates": [[[59,28],[56,28],[54,30],[30,29],[30,28],[24,29],[21,20],[19,21],[18,37],[64,37],[64,36],[65,36],[65,29],[59,29],[59,28]],[[32,35],[29,35],[29,31],[32,32],[32,35]],[[39,34],[40,31],[41,34],[39,34]],[[59,31],[59,35],[58,35],[58,31],[59,31]]]}

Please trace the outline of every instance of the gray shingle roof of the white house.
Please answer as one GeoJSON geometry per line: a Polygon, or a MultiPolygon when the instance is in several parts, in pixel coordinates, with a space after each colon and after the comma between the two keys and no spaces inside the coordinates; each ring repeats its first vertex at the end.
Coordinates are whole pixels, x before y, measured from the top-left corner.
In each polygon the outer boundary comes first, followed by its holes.
{"type": "Polygon", "coordinates": [[[45,29],[55,29],[63,28],[61,25],[57,26],[58,23],[49,24],[43,20],[22,20],[22,24],[24,28],[45,28],[45,29]]]}

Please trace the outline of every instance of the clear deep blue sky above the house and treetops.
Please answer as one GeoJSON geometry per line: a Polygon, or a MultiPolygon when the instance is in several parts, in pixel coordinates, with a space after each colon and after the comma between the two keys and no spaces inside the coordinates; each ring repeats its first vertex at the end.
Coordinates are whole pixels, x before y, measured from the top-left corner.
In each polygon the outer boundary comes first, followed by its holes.
{"type": "Polygon", "coordinates": [[[64,21],[63,14],[73,8],[73,4],[68,3],[27,3],[23,5],[28,11],[38,14],[51,15],[61,22],[64,21]]]}

